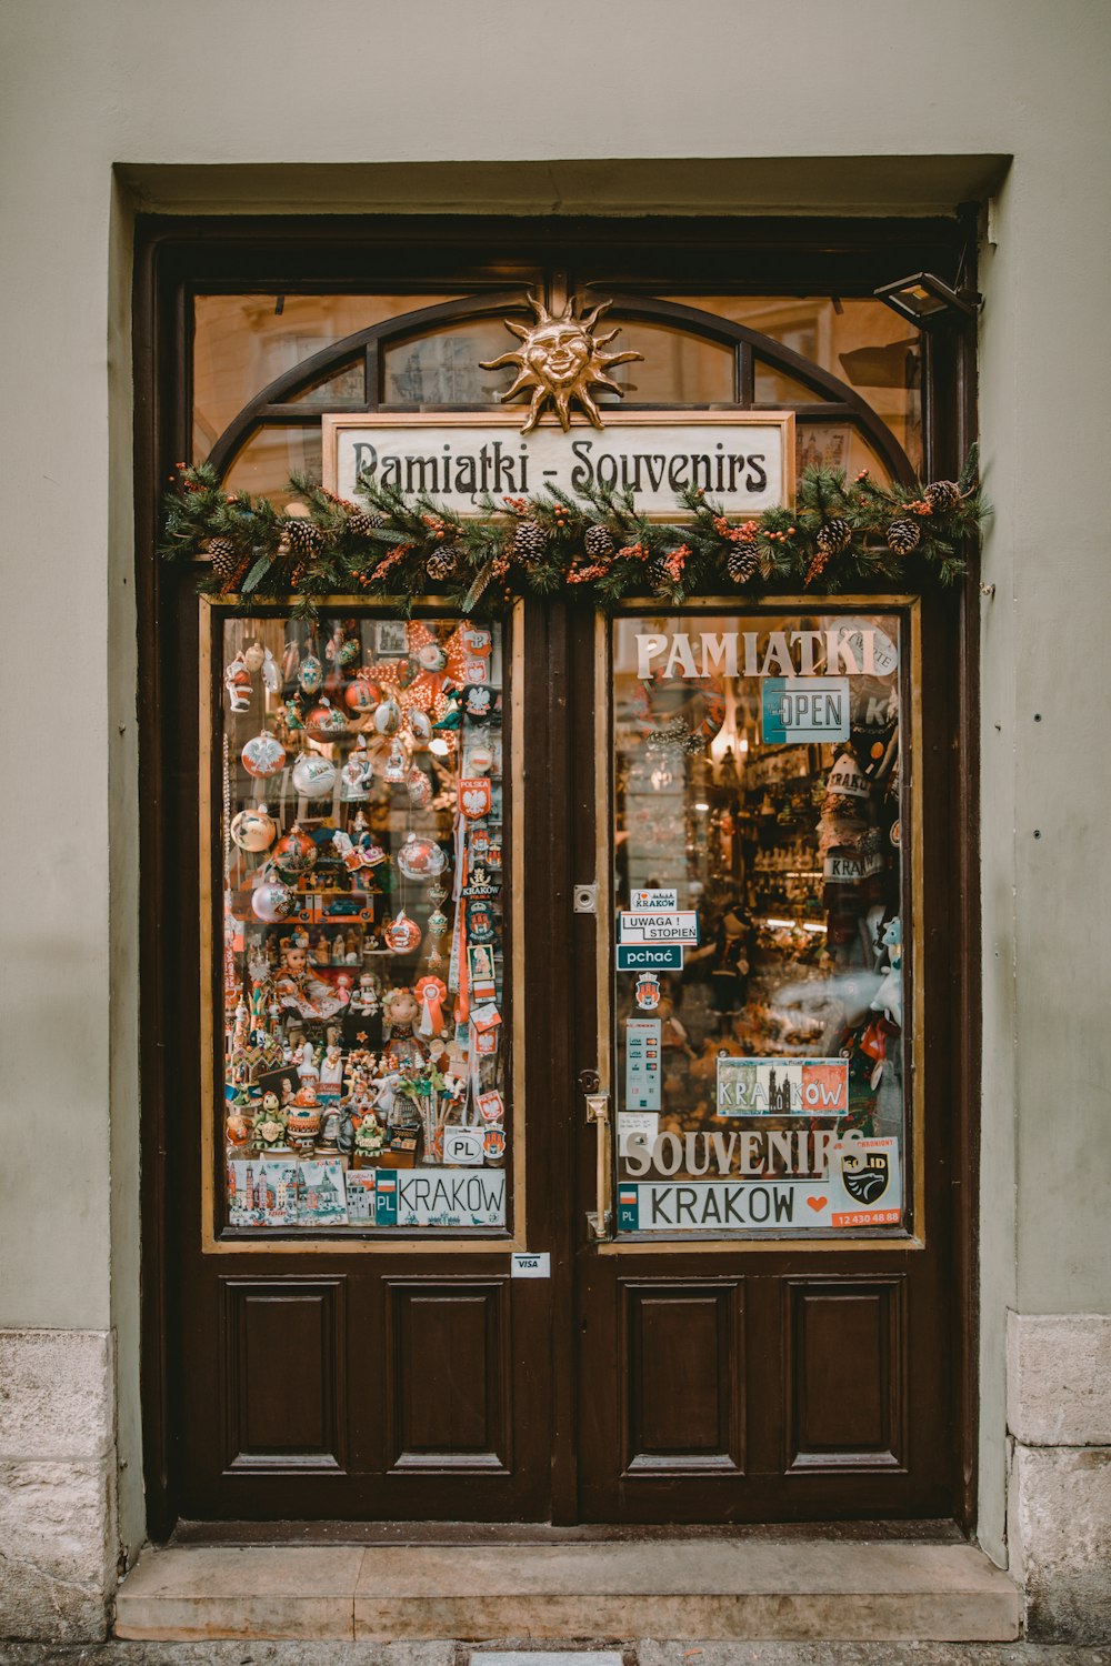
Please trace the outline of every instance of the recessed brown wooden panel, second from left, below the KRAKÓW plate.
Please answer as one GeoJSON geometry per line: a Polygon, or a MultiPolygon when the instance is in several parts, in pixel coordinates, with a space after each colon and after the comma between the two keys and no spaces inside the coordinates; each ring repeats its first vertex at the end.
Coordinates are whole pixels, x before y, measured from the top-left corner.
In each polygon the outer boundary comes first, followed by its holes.
{"type": "Polygon", "coordinates": [[[386,1284],[386,1464],[510,1468],[510,1301],[505,1279],[386,1284]]]}

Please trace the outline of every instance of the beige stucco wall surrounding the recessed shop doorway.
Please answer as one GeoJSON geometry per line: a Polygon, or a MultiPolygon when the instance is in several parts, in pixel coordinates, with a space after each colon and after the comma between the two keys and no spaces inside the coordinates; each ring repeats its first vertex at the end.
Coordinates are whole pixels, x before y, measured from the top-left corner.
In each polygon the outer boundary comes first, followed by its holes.
{"type": "Polygon", "coordinates": [[[988,195],[1013,157],[981,330],[998,506],[983,601],[981,1533],[1003,1559],[1006,1309],[1111,1311],[1109,20],[1099,0],[3,8],[2,675],[27,720],[10,728],[0,816],[0,1326],[117,1331],[125,1543],[143,1531],[137,202],[914,210],[988,195]]]}

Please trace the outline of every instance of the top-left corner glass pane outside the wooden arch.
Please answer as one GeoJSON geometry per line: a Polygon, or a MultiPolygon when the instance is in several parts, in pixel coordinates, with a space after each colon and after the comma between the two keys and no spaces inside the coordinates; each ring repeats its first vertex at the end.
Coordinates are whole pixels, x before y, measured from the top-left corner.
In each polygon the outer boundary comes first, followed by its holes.
{"type": "MultiPolygon", "coordinates": [[[[193,460],[202,461],[248,400],[331,342],[451,295],[197,295],[193,460]]],[[[361,397],[361,385],[360,385],[361,397]]]]}

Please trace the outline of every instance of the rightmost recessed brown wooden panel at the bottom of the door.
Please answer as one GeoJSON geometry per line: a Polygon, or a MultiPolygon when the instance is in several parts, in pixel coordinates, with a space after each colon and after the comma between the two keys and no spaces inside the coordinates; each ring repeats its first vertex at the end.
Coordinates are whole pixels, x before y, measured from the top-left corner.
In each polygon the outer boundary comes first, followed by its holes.
{"type": "Polygon", "coordinates": [[[903,1278],[790,1279],[790,1469],[901,1468],[906,1376],[903,1278]]]}

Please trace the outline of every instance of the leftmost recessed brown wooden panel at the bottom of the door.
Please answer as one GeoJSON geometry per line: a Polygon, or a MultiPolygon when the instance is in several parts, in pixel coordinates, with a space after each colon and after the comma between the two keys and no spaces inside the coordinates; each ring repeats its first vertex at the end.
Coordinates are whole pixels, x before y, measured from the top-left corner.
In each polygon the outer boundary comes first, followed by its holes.
{"type": "Polygon", "coordinates": [[[341,1469],[345,1281],[227,1279],[230,1469],[341,1469]]]}

